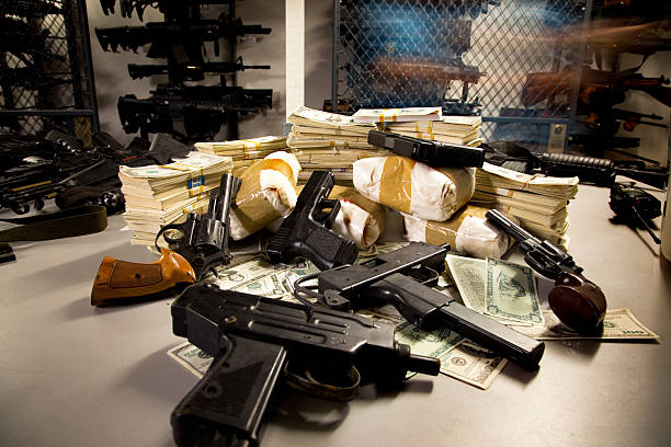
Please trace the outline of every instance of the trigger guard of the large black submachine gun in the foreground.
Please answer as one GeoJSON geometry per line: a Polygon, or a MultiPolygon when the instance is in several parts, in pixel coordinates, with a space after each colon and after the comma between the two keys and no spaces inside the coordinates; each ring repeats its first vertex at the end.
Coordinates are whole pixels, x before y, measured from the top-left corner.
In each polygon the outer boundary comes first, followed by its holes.
{"type": "Polygon", "coordinates": [[[284,378],[286,385],[291,388],[315,396],[321,399],[329,399],[339,402],[348,402],[356,399],[359,396],[359,386],[361,383],[361,374],[354,365],[350,365],[350,370],[343,377],[334,378],[339,381],[344,381],[344,386],[325,383],[315,377],[312,370],[306,369],[304,376],[289,369],[289,362],[284,364],[284,378]]]}

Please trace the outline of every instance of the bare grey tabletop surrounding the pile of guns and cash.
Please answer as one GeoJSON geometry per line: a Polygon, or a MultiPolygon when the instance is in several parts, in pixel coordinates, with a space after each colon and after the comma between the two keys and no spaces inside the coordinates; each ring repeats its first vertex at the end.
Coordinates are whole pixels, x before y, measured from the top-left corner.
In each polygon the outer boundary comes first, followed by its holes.
{"type": "MultiPolygon", "coordinates": [[[[658,343],[546,342],[537,373],[509,364],[487,391],[439,376],[399,392],[365,387],[344,404],[289,393],[261,444],[668,445],[671,266],[645,232],[609,220],[607,190],[581,185],[569,213],[585,276],[658,343]]],[[[183,341],[171,333],[171,301],[90,306],[104,255],[156,261],[123,227],[113,216],[103,233],[14,243],[18,262],[0,265],[1,445],[173,445],[170,412],[196,378],[166,354],[183,341]]]]}

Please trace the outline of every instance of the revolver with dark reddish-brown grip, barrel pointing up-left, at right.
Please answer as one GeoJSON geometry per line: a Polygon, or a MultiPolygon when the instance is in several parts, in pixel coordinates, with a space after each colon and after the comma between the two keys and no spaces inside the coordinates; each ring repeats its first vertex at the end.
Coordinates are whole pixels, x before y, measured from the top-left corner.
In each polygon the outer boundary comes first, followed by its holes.
{"type": "Polygon", "coordinates": [[[520,243],[524,261],[533,270],[555,280],[548,302],[559,320],[578,332],[594,332],[605,317],[606,299],[596,284],[582,276],[583,268],[573,257],[551,242],[534,237],[496,209],[485,216],[520,243]]]}

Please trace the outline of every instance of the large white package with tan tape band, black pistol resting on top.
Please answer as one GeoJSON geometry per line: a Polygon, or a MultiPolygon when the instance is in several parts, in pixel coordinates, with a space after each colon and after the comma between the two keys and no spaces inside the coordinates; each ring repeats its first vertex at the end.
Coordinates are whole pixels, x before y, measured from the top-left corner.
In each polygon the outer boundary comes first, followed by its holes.
{"type": "Polygon", "coordinates": [[[474,168],[434,169],[405,157],[371,157],[353,164],[366,198],[420,219],[447,220],[475,191],[474,168]]]}

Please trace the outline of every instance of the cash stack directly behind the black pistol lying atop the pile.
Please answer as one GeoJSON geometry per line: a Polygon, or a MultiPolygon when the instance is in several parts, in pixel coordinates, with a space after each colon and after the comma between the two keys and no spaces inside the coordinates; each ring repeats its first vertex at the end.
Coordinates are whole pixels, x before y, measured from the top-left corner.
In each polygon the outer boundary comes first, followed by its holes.
{"type": "Polygon", "coordinates": [[[441,121],[389,123],[385,130],[431,141],[479,146],[481,124],[480,116],[443,116],[441,121]]]}

